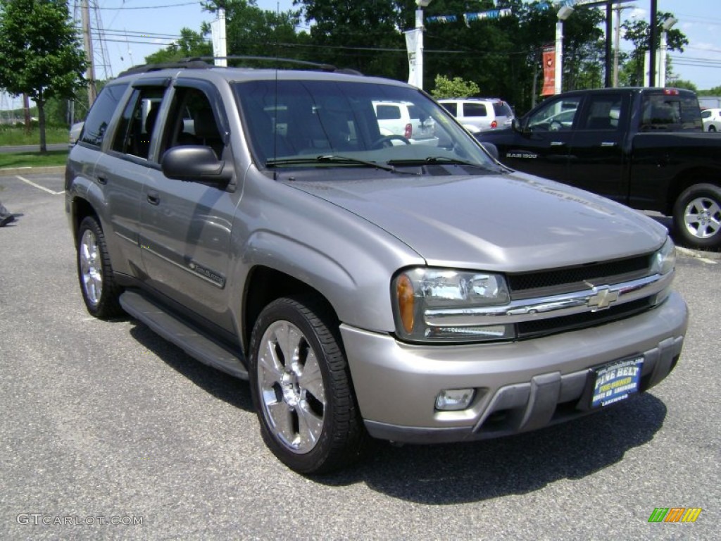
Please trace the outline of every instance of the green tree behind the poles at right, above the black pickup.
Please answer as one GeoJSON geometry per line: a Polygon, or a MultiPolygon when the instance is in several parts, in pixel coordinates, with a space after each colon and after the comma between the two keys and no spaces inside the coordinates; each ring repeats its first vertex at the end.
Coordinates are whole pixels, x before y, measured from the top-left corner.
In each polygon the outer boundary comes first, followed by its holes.
{"type": "MultiPolygon", "coordinates": [[[[673,17],[673,14],[668,12],[658,12],[656,14],[656,43],[655,50],[660,47],[661,32],[663,22],[666,19],[673,17]]],[[[630,87],[642,87],[645,86],[644,76],[644,58],[646,52],[649,50],[648,42],[650,36],[650,26],[647,22],[642,19],[631,19],[625,21],[621,27],[624,30],[624,39],[629,40],[634,44],[634,50],[629,56],[629,59],[624,63],[621,79],[624,84],[630,87]]],[[[684,52],[684,46],[689,45],[689,40],[684,35],[684,32],[677,28],[671,28],[666,34],[666,46],[669,50],[678,50],[678,52],[684,52]]],[[[658,67],[658,66],[657,66],[658,67]]],[[[668,64],[668,69],[671,69],[671,64],[668,64]]],[[[666,76],[670,76],[671,73],[667,71],[666,76]]]]}

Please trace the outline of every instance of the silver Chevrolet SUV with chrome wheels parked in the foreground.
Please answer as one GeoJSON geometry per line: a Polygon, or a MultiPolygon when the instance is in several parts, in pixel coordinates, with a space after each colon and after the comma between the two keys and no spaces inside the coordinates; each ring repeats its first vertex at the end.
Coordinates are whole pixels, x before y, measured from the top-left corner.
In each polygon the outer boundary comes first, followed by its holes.
{"type": "Polygon", "coordinates": [[[90,314],[248,379],[298,472],[371,438],[486,439],[609,408],[664,379],[686,333],[663,226],[503,167],[396,81],[136,69],[89,111],[65,203],[90,314]],[[384,135],[379,102],[417,107],[435,144],[384,135]]]}

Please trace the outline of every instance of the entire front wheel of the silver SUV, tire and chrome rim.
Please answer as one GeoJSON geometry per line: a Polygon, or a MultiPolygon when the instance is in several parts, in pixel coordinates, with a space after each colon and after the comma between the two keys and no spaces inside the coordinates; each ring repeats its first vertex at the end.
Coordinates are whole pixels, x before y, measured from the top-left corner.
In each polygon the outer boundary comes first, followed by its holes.
{"type": "Polygon", "coordinates": [[[354,462],[368,439],[337,322],[309,297],[277,299],[250,340],[249,379],[265,444],[304,474],[354,462]]]}

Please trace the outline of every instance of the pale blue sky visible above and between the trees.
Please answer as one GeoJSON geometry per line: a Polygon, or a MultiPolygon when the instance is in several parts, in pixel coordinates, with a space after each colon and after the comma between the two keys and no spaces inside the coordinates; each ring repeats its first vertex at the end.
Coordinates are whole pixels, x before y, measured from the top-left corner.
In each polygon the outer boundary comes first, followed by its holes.
{"type": "MultiPolygon", "coordinates": [[[[146,56],[179,37],[181,28],[197,31],[201,22],[211,22],[215,18],[203,11],[200,1],[89,1],[97,8],[91,12],[92,26],[101,26],[105,32],[105,48],[95,45],[94,50],[97,79],[118,76],[133,65],[145,63],[146,56]]],[[[79,5],[79,1],[75,4],[79,5]]],[[[293,9],[293,0],[257,0],[257,6],[285,12],[293,9]]],[[[648,22],[650,0],[629,1],[623,6],[622,20],[637,17],[648,22]]],[[[658,12],[673,13],[678,19],[675,28],[689,39],[684,53],[668,54],[673,74],[693,82],[698,89],[721,86],[721,1],[657,0],[657,6],[658,12]]],[[[79,9],[76,15],[80,19],[79,9]]],[[[305,23],[301,28],[304,26],[305,23]]],[[[549,40],[552,39],[553,36],[549,36],[549,40]]],[[[622,49],[630,50],[631,46],[622,43],[622,49]]],[[[12,98],[5,97],[4,100],[12,98]]],[[[11,104],[1,104],[2,108],[8,105],[11,104]]]]}

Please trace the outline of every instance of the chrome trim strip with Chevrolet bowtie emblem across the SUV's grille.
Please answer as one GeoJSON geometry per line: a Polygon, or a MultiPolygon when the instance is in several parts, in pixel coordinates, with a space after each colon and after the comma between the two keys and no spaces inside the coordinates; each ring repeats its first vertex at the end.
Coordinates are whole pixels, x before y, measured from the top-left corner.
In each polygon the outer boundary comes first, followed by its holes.
{"type": "Polygon", "coordinates": [[[424,320],[430,327],[510,325],[583,312],[600,312],[611,306],[660,293],[671,286],[673,274],[674,272],[665,275],[653,274],[637,280],[614,283],[612,286],[591,286],[585,291],[511,301],[503,306],[428,309],[424,313],[424,320]]]}

